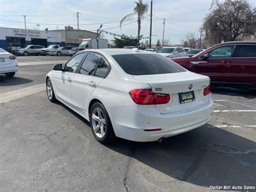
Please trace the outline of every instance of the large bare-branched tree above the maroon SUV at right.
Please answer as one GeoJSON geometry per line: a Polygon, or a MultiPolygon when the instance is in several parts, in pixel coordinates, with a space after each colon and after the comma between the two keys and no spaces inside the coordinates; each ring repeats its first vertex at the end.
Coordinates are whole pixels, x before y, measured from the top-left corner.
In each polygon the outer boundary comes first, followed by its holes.
{"type": "Polygon", "coordinates": [[[256,34],[256,8],[245,0],[213,0],[211,13],[205,17],[203,28],[209,44],[244,40],[256,34]]]}

